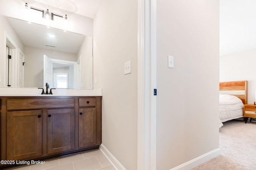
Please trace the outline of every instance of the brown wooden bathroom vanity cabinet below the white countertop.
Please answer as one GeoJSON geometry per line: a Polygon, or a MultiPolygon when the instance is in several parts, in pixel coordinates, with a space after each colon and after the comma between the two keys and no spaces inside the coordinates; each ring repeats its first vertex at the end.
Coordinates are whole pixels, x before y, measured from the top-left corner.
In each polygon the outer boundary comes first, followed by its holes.
{"type": "Polygon", "coordinates": [[[0,160],[42,160],[98,148],[101,107],[102,96],[0,97],[0,160]]]}

